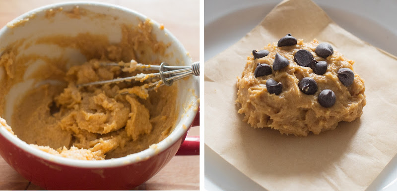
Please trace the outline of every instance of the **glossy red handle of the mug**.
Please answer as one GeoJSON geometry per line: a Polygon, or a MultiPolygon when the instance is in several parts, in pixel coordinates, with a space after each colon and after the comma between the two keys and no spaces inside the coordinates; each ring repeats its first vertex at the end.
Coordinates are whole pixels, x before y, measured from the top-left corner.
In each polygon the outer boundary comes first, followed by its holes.
{"type": "MultiPolygon", "coordinates": [[[[191,127],[199,126],[199,125],[200,125],[200,111],[197,112],[191,127]]],[[[187,136],[176,155],[199,155],[199,154],[200,154],[200,137],[187,136]]]]}

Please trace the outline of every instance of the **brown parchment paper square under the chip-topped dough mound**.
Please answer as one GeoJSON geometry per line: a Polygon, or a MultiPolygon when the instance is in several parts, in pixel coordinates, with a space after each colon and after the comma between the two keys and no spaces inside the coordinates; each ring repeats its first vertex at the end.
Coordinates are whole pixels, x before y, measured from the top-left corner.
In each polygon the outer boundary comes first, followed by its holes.
{"type": "Polygon", "coordinates": [[[205,62],[205,143],[268,190],[364,190],[397,152],[396,66],[395,56],[342,29],[311,0],[283,1],[243,39],[205,62]],[[308,137],[243,122],[236,77],[253,49],[288,33],[330,43],[355,60],[367,96],[360,119],[308,137]]]}

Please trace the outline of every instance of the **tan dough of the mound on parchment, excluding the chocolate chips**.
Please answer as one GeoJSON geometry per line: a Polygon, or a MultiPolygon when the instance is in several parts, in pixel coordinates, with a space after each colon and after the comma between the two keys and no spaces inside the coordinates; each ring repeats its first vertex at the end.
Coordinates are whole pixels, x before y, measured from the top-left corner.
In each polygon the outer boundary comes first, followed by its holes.
{"type": "Polygon", "coordinates": [[[237,82],[236,102],[241,106],[238,112],[245,114],[244,121],[254,128],[269,127],[281,134],[307,136],[310,132],[318,135],[335,129],[339,121],[350,122],[361,116],[362,108],[366,104],[364,81],[355,73],[353,84],[345,87],[337,77],[340,68],[353,70],[354,61],[337,51],[327,59],[319,57],[315,53],[318,45],[317,40],[310,43],[298,40],[297,45],[280,48],[277,43],[273,43],[265,47],[270,52],[267,56],[255,60],[248,56],[242,77],[237,82]],[[327,72],[317,75],[310,67],[296,64],[294,54],[300,49],[310,51],[317,61],[327,61],[327,72]],[[290,64],[281,70],[273,70],[270,75],[255,78],[257,64],[266,63],[272,66],[276,53],[287,58],[290,64]],[[317,82],[318,90],[314,95],[306,95],[299,90],[298,82],[304,77],[310,77],[317,82]],[[282,83],[281,94],[267,92],[265,84],[268,79],[282,83]],[[329,108],[318,102],[320,92],[325,89],[332,90],[336,95],[335,104],[329,108]]]}

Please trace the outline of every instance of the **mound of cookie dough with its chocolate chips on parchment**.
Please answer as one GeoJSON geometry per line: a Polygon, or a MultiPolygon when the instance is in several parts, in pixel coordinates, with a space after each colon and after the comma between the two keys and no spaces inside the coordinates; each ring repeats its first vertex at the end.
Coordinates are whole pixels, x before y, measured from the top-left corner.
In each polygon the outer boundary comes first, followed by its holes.
{"type": "Polygon", "coordinates": [[[237,82],[238,112],[252,127],[296,136],[317,135],[335,129],[340,121],[361,116],[365,87],[352,71],[354,61],[333,52],[328,44],[319,46],[317,40],[304,43],[290,34],[264,49],[248,56],[237,82]],[[349,69],[352,76],[338,74],[341,68],[349,69]]]}

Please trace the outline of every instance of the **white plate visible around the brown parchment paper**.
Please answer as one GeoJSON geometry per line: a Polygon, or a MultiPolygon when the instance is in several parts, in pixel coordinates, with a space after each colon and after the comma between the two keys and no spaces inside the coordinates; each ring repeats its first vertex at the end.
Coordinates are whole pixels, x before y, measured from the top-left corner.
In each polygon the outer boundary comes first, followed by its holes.
{"type": "MultiPolygon", "coordinates": [[[[375,47],[397,55],[397,1],[314,1],[339,26],[375,47]]],[[[244,37],[278,2],[205,0],[204,60],[212,58],[244,37]]],[[[204,152],[206,190],[263,190],[207,145],[204,152]]],[[[397,190],[397,157],[392,159],[368,190],[397,190]]]]}

